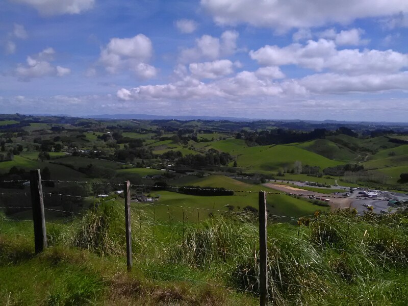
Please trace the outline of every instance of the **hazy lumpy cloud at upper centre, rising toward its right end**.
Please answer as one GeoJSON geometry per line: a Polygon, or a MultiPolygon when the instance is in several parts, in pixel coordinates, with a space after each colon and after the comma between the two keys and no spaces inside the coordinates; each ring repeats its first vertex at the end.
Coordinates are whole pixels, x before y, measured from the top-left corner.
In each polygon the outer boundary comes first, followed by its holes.
{"type": "Polygon", "coordinates": [[[203,35],[195,40],[195,46],[182,50],[179,60],[191,63],[200,59],[217,60],[221,56],[231,55],[237,48],[238,32],[225,31],[220,38],[203,35]]]}

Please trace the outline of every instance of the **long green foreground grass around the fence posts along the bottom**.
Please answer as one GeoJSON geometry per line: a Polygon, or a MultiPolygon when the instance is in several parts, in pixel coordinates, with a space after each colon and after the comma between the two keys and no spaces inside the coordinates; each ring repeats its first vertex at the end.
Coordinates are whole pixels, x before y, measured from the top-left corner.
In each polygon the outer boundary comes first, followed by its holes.
{"type": "MultiPolygon", "coordinates": [[[[256,215],[181,223],[134,212],[131,273],[124,272],[123,212],[113,202],[47,224],[50,247],[39,255],[28,224],[0,222],[6,305],[258,304],[256,215]]],[[[316,213],[297,225],[269,220],[270,303],[406,305],[407,229],[403,213],[316,213]]]]}

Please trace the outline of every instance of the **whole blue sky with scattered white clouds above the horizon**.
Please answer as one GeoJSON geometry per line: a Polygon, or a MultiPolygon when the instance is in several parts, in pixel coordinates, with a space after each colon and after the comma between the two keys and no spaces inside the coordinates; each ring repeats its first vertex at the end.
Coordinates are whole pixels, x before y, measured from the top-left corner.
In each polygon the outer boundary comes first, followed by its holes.
{"type": "Polygon", "coordinates": [[[1,0],[1,113],[407,122],[406,0],[1,0]]]}

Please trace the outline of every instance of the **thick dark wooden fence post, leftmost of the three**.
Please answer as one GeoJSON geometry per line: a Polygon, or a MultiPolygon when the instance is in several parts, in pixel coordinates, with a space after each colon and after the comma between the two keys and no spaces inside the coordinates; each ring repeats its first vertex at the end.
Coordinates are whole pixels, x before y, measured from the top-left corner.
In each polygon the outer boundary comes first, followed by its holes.
{"type": "Polygon", "coordinates": [[[33,207],[35,252],[40,253],[47,247],[45,230],[44,202],[40,170],[30,171],[31,205],[33,207]]]}

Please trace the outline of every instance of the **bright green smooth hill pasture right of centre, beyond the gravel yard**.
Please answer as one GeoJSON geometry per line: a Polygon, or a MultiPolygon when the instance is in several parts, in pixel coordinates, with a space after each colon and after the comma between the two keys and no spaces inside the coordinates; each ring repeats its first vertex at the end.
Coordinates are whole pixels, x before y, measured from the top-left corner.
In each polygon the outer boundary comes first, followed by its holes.
{"type": "Polygon", "coordinates": [[[319,166],[321,169],[343,164],[297,146],[287,145],[248,147],[239,150],[237,154],[238,166],[248,171],[278,171],[284,167],[293,167],[295,161],[300,161],[303,165],[319,166]]]}

